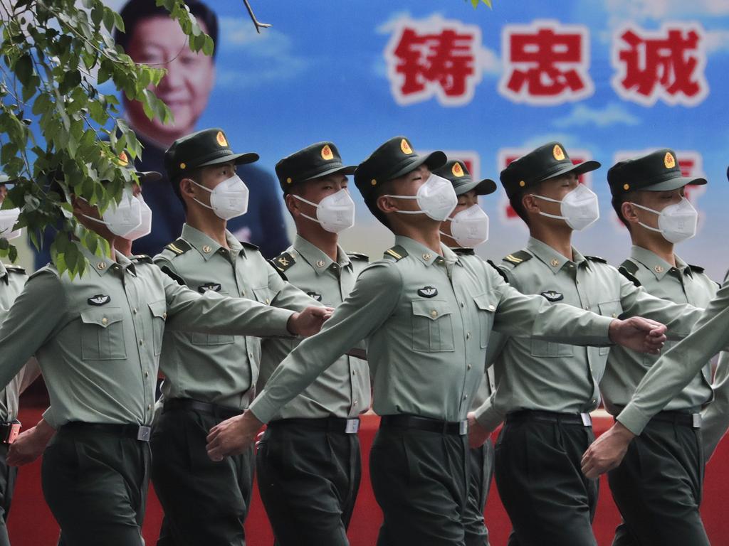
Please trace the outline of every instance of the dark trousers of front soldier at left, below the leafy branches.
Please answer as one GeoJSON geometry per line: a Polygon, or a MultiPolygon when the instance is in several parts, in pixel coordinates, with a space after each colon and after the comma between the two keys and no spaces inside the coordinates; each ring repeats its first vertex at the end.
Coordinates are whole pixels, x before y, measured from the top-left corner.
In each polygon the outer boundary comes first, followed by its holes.
{"type": "Polygon", "coordinates": [[[43,454],[41,479],[63,546],[142,546],[149,444],[61,427],[43,454]]]}

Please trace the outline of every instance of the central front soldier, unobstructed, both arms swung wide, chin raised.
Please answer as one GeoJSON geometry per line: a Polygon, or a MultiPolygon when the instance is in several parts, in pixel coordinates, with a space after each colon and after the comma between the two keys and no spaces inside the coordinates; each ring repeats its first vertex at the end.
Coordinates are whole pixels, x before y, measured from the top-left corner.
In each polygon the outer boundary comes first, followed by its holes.
{"type": "Polygon", "coordinates": [[[278,365],[243,416],[208,435],[219,460],[248,448],[269,422],[340,355],[367,339],[381,416],[370,454],[375,498],[384,514],[378,544],[464,545],[466,415],[483,378],[491,328],[550,341],[655,350],[663,325],[626,321],[523,296],[483,261],[461,261],[441,245],[440,223],[456,206],[453,186],[431,170],[407,138],[380,146],[354,181],[367,207],[395,234],[385,257],[359,275],[330,328],[278,365]]]}

